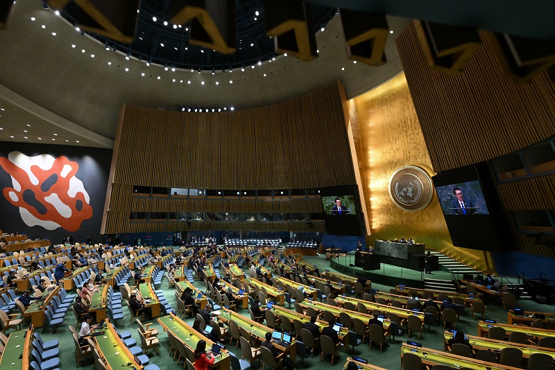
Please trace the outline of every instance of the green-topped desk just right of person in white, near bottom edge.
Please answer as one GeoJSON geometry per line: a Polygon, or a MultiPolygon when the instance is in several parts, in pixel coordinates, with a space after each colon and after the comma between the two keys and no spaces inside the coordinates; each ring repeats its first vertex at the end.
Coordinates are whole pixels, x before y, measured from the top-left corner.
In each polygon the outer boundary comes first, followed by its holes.
{"type": "MultiPolygon", "coordinates": [[[[104,335],[97,335],[96,348],[99,350],[101,358],[103,358],[106,367],[110,370],[126,369],[142,369],[142,365],[135,360],[135,356],[129,351],[126,345],[121,341],[119,335],[111,323],[105,321],[107,328],[103,329],[104,335]]],[[[98,330],[96,330],[98,331],[98,330]]]]}

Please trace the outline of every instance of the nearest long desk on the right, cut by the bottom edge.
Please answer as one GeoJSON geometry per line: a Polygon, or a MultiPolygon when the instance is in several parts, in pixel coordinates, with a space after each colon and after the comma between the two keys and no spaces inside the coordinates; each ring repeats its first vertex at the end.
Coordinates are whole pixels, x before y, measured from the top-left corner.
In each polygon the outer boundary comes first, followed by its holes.
{"type": "Polygon", "coordinates": [[[474,358],[452,355],[451,353],[436,351],[431,348],[410,346],[406,343],[403,343],[401,347],[401,364],[405,353],[413,353],[413,355],[417,355],[422,360],[422,364],[428,365],[429,367],[432,367],[435,364],[443,364],[448,367],[464,367],[465,369],[473,370],[519,370],[518,367],[510,367],[502,364],[495,364],[494,362],[475,360],[474,358]]]}

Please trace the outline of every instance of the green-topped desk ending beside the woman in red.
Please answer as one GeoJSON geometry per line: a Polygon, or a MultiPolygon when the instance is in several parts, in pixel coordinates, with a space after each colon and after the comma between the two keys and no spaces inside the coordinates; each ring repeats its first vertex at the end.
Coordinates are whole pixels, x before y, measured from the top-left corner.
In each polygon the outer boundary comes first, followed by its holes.
{"type": "MultiPolygon", "coordinates": [[[[182,319],[174,314],[159,317],[158,322],[162,325],[164,331],[171,332],[176,339],[179,339],[185,344],[185,346],[191,348],[193,352],[195,351],[196,345],[200,340],[204,340],[206,342],[207,350],[212,348],[212,344],[214,344],[214,342],[198,333],[198,331],[191,328],[191,326],[185,323],[185,321],[182,321],[182,319]]],[[[227,350],[222,349],[221,355],[216,358],[212,367],[218,367],[221,370],[228,370],[230,369],[230,366],[230,355],[227,350]]]]}

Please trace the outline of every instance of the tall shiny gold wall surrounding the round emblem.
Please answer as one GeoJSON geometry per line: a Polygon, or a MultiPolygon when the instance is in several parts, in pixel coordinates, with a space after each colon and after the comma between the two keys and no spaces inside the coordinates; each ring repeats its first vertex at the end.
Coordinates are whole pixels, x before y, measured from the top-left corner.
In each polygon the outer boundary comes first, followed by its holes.
{"type": "Polygon", "coordinates": [[[430,177],[434,176],[404,74],[357,96],[350,104],[355,104],[354,110],[350,107],[350,122],[359,139],[357,157],[363,177],[361,188],[372,235],[367,242],[374,244],[375,239],[411,237],[431,249],[452,256],[459,253],[459,260],[467,264],[483,258],[481,251],[452,247],[435,194],[429,205],[418,212],[405,212],[391,201],[389,179],[400,167],[418,166],[430,177]]]}

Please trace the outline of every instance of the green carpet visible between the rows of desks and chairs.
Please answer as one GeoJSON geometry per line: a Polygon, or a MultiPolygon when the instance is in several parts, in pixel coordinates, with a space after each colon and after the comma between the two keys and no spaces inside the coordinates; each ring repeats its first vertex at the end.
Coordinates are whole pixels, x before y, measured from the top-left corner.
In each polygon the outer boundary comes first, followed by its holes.
{"type": "MultiPolygon", "coordinates": [[[[330,262],[326,261],[323,255],[316,256],[316,257],[307,256],[305,257],[305,260],[307,260],[307,262],[311,264],[316,264],[320,269],[320,271],[323,271],[324,269],[330,269],[330,271],[334,271],[332,268],[330,268],[330,262]]],[[[205,290],[205,286],[203,282],[195,282],[194,285],[196,287],[199,287],[203,291],[205,290]]],[[[380,290],[384,290],[386,292],[388,292],[390,288],[388,286],[379,285],[375,283],[373,283],[373,287],[380,290]]],[[[169,303],[171,303],[172,307],[175,309],[177,305],[175,303],[175,298],[173,294],[174,290],[173,288],[167,289],[167,280],[165,279],[163,280],[161,289],[164,290],[164,295],[166,296],[169,303]]],[[[530,310],[530,311],[539,310],[539,311],[545,311],[545,312],[552,311],[551,306],[541,305],[534,301],[521,300],[519,302],[519,305],[520,305],[520,308],[524,308],[524,310],[530,310]]],[[[123,313],[126,315],[126,319],[123,319],[118,322],[118,329],[120,331],[123,331],[123,330],[130,331],[131,335],[133,335],[133,338],[137,340],[138,344],[140,344],[139,335],[137,334],[137,323],[135,322],[130,323],[130,313],[128,312],[125,305],[123,305],[123,313]]],[[[244,314],[246,317],[249,317],[248,310],[239,310],[239,313],[244,314]]],[[[486,319],[494,319],[494,320],[497,320],[497,322],[506,323],[507,321],[506,310],[503,310],[502,305],[500,305],[500,303],[491,303],[490,305],[488,305],[486,309],[486,319]]],[[[478,320],[479,320],[478,318],[472,319],[472,313],[467,308],[466,314],[463,317],[461,317],[461,321],[457,323],[457,328],[463,328],[463,330],[470,335],[477,335],[478,320]]],[[[193,323],[193,319],[191,318],[187,318],[185,319],[185,321],[191,325],[193,323]]],[[[160,367],[160,369],[162,370],[182,368],[183,367],[182,364],[180,365],[180,367],[178,367],[177,362],[174,361],[169,356],[169,342],[168,342],[166,333],[164,333],[164,330],[162,329],[160,324],[157,323],[155,319],[152,322],[153,322],[153,325],[151,326],[151,328],[157,328],[158,332],[160,333],[158,335],[158,338],[160,339],[161,347],[160,347],[160,353],[158,355],[156,355],[153,350],[148,351],[147,354],[148,354],[148,357],[150,358],[150,363],[157,364],[157,366],[160,367]]],[[[74,318],[74,315],[71,314],[71,312],[69,312],[69,314],[66,314],[64,324],[58,328],[59,333],[51,334],[49,328],[44,328],[44,330],[43,328],[37,329],[37,332],[42,335],[44,341],[48,341],[54,338],[60,340],[60,364],[61,364],[60,368],[61,369],[74,369],[76,367],[76,361],[74,358],[75,346],[74,346],[73,339],[71,338],[71,332],[67,327],[68,325],[71,325],[71,326],[76,325],[76,320],[74,318]]],[[[398,341],[406,342],[408,339],[406,330],[404,330],[403,335],[401,335],[400,337],[396,337],[396,339],[398,341]]],[[[421,342],[422,345],[425,347],[434,348],[434,349],[443,351],[443,327],[432,326],[431,331],[428,331],[427,329],[425,330],[424,337],[422,339],[418,339],[416,335],[413,335],[411,340],[414,340],[416,342],[421,342]]],[[[401,346],[400,343],[390,344],[388,348],[384,350],[383,353],[380,353],[379,347],[373,347],[370,350],[368,348],[368,344],[362,344],[361,346],[358,346],[355,348],[355,355],[357,355],[360,358],[367,359],[370,364],[374,364],[378,367],[383,367],[385,369],[400,369],[401,368],[400,367],[400,346],[401,346]]],[[[241,358],[240,348],[236,350],[235,346],[229,346],[228,349],[233,351],[236,355],[239,356],[239,358],[241,358]]],[[[339,362],[335,362],[333,365],[335,369],[342,369],[343,364],[345,364],[346,358],[350,357],[348,353],[344,353],[343,351],[344,351],[344,348],[340,353],[341,360],[339,360],[339,362]]],[[[305,360],[305,366],[309,369],[325,369],[327,367],[330,367],[331,365],[330,365],[329,358],[326,358],[325,356],[324,361],[321,362],[320,357],[318,355],[318,357],[309,358],[305,360]]],[[[80,363],[80,368],[92,369],[93,368],[92,358],[82,360],[80,363]]],[[[262,369],[262,365],[258,366],[257,361],[254,361],[253,369],[262,369]]]]}

